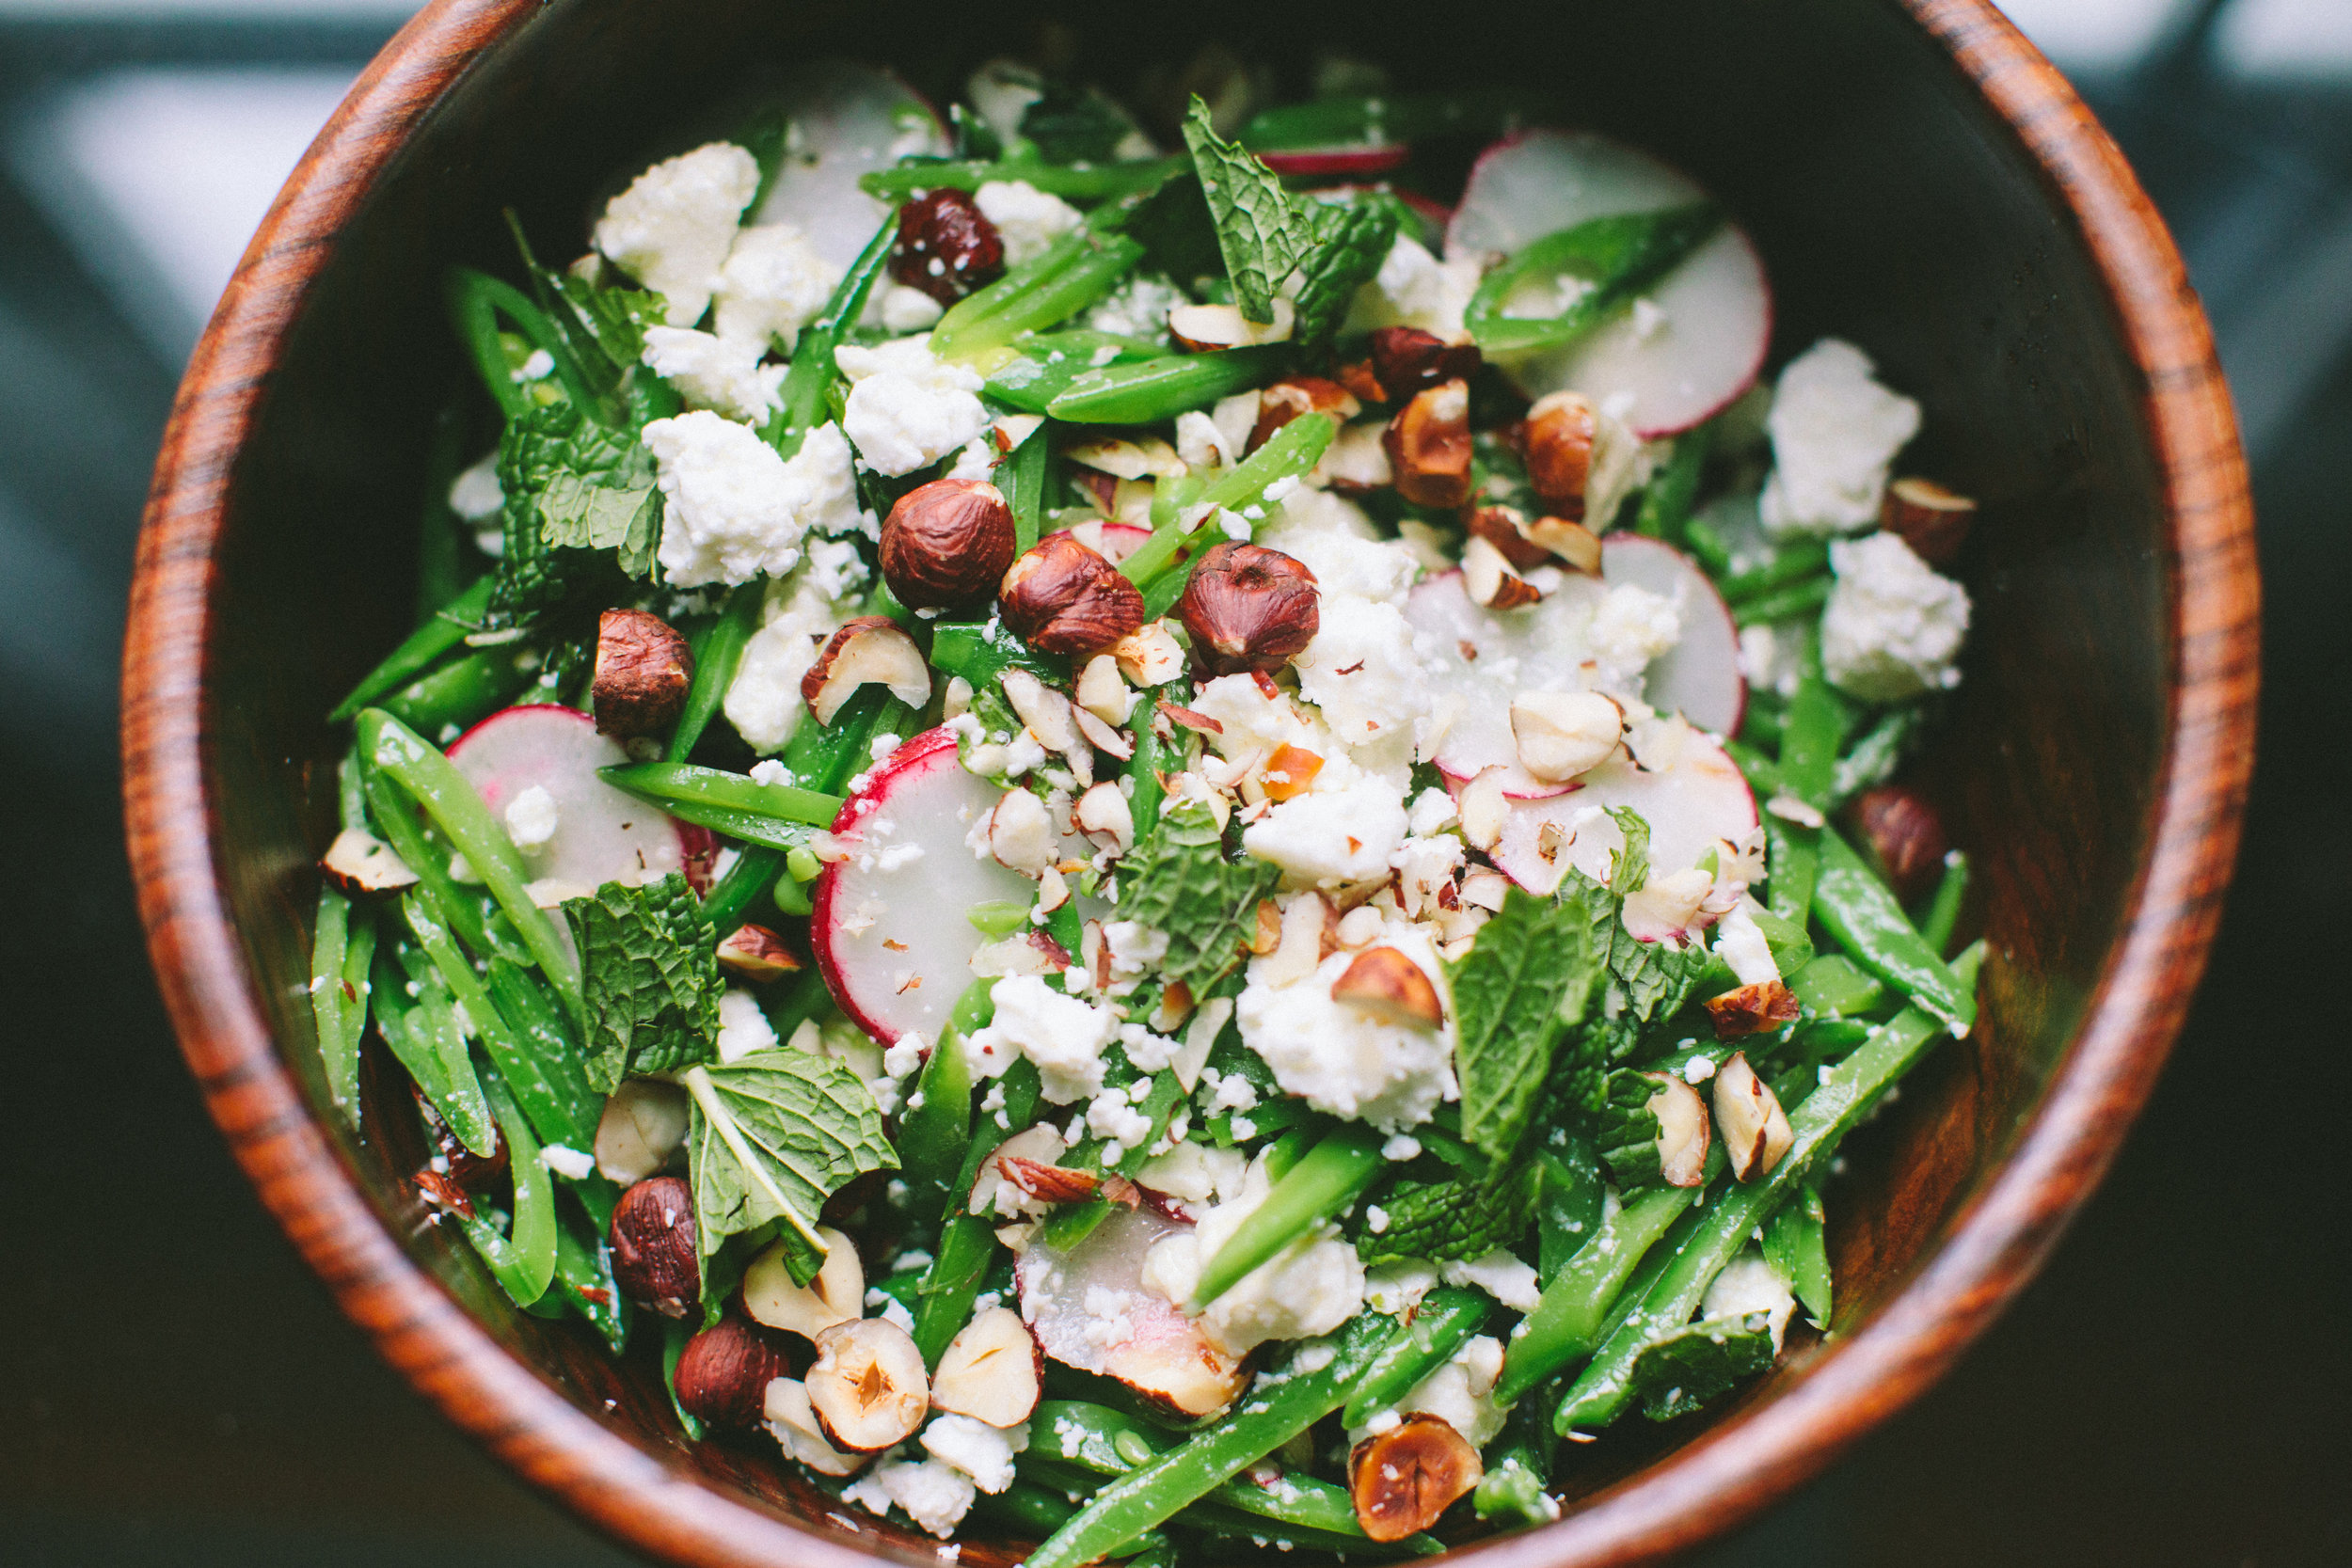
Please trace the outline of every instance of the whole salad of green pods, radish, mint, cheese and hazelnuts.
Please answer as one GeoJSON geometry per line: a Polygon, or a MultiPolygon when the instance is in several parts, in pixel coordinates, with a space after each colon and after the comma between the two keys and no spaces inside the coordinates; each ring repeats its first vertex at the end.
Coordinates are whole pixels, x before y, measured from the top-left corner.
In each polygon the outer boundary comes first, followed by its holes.
{"type": "Polygon", "coordinates": [[[517,228],[334,712],[339,1112],[691,1439],[1051,1568],[1555,1519],[1832,1321],[1973,1020],[1919,404],[1639,148],[1324,75],[809,66],[517,228]]]}

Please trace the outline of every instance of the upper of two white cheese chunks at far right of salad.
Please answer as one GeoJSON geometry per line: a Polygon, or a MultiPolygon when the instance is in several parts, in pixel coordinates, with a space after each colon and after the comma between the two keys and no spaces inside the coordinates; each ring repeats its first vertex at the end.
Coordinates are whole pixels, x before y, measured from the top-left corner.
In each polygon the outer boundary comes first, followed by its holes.
{"type": "Polygon", "coordinates": [[[1919,435],[1919,404],[1879,386],[1860,348],[1823,339],[1780,371],[1764,423],[1764,531],[1842,534],[1877,522],[1886,470],[1919,435]]]}

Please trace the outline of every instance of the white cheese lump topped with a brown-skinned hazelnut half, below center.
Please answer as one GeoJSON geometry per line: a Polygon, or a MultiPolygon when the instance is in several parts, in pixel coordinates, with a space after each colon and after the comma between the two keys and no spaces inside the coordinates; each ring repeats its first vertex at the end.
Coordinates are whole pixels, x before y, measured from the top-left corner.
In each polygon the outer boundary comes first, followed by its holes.
{"type": "MultiPolygon", "coordinates": [[[[1428,936],[1392,926],[1383,945],[1395,947],[1446,994],[1444,966],[1428,936]]],[[[1355,1117],[1383,1133],[1399,1133],[1430,1119],[1454,1084],[1454,1020],[1437,1030],[1383,1023],[1364,1009],[1331,999],[1331,985],[1348,973],[1352,952],[1334,952],[1294,985],[1270,985],[1279,973],[1270,959],[1251,959],[1249,985],[1235,1006],[1242,1044],[1256,1051],[1284,1093],[1301,1095],[1331,1117],[1355,1117]]]]}

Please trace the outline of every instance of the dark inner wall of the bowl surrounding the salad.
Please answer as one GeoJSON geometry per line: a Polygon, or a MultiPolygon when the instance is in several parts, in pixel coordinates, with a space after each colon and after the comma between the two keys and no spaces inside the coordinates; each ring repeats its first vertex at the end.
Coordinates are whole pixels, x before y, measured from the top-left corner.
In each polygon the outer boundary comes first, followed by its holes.
{"type": "MultiPolygon", "coordinates": [[[[691,141],[682,127],[708,125],[762,71],[849,54],[943,94],[1049,16],[748,0],[557,0],[515,14],[334,233],[228,477],[202,670],[212,863],[249,992],[313,1107],[325,1095],[303,1001],[310,858],[334,813],[320,715],[407,628],[428,425],[461,374],[442,268],[510,273],[506,205],[543,256],[579,254],[593,202],[691,141]]],[[[1983,498],[1962,567],[1976,595],[1966,684],[1917,776],[1980,870],[1971,919],[1992,938],[1985,1023],[1849,1145],[1830,1211],[1837,1331],[1851,1335],[1938,1255],[2016,1150],[2117,952],[2152,846],[2178,562],[2150,388],[2074,214],[1952,52],[1889,0],[1211,2],[1065,19],[1084,71],[1112,89],[1145,61],[1225,38],[1277,61],[1291,89],[1319,49],[1341,49],[1388,63],[1399,85],[1559,92],[1581,120],[1684,165],[1750,228],[1778,294],[1776,364],[1830,331],[1863,343],[1926,404],[1907,465],[1983,498]]],[[[2145,1051],[2161,1046],[2157,1030],[2145,1051]]],[[[372,1103],[393,1105],[386,1063],[369,1072],[372,1103]]],[[[2133,1107],[2126,1095],[2117,1119],[2133,1107]]],[[[821,1519],[769,1443],[687,1446],[659,1366],[616,1366],[586,1333],[515,1312],[473,1253],[423,1220],[407,1119],[374,1117],[367,1138],[320,1121],[381,1225],[515,1361],[661,1465],[821,1519]]],[[[2103,1133],[2093,1171],[2114,1135],[2103,1133]]],[[[2060,1215],[2074,1197],[2058,1199],[2060,1215]]],[[[1802,1387],[1832,1349],[1835,1338],[1799,1349],[1740,1413],[1802,1387]]],[[[1573,1488],[1653,1467],[1693,1432],[1616,1434],[1578,1460],[1573,1488]]],[[[1783,1465],[1766,1490],[1811,1462],[1783,1465]]]]}

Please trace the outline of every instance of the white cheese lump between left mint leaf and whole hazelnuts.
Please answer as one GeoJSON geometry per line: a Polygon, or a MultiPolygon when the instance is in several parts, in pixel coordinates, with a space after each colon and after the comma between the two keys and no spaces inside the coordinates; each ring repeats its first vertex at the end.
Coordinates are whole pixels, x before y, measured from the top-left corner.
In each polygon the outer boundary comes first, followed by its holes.
{"type": "Polygon", "coordinates": [[[809,430],[790,463],[706,409],[656,418],[644,444],[668,496],[659,555],[673,588],[783,576],[804,534],[858,527],[849,442],[833,423],[809,430]]]}

